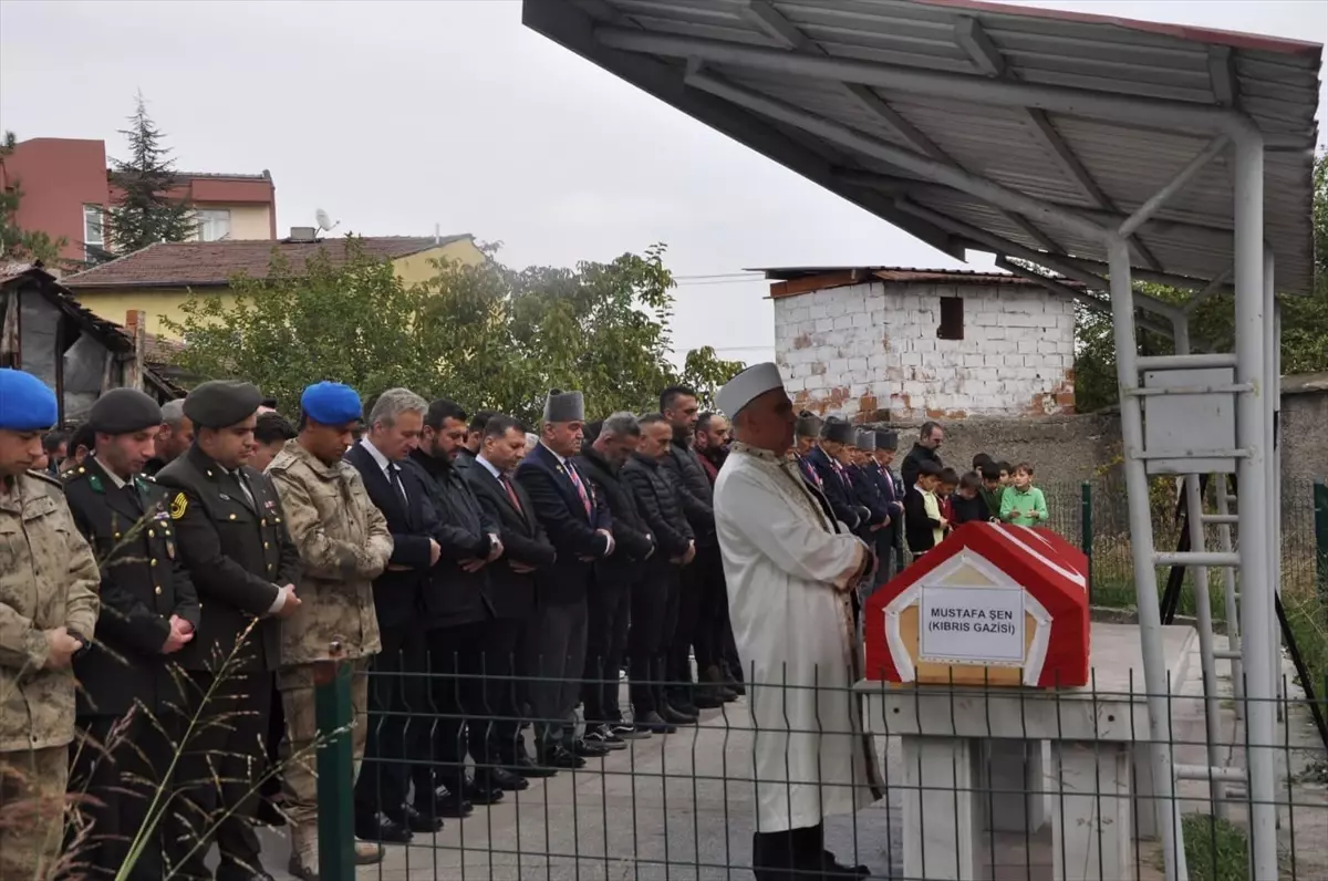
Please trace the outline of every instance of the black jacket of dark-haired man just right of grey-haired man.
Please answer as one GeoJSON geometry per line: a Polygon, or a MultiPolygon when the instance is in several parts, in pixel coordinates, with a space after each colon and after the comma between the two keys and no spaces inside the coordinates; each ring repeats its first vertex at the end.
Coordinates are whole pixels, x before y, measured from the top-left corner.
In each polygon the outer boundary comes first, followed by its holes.
{"type": "Polygon", "coordinates": [[[498,534],[498,522],[479,508],[470,486],[461,478],[461,472],[446,460],[417,449],[405,461],[405,468],[420,474],[429,489],[433,510],[438,514],[434,538],[442,554],[438,565],[429,573],[429,589],[425,591],[425,609],[429,613],[426,626],[454,627],[494,617],[489,597],[489,569],[493,563],[478,571],[466,571],[461,563],[489,555],[493,550],[489,537],[498,534]]]}

